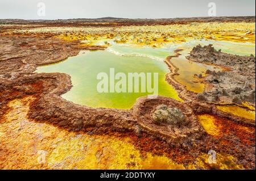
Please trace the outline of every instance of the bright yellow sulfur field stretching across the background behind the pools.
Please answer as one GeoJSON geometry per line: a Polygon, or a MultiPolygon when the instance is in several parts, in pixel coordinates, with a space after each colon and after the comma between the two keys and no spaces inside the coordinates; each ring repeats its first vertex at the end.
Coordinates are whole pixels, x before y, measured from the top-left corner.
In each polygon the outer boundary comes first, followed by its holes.
{"type": "Polygon", "coordinates": [[[85,45],[111,45],[111,41],[138,46],[163,47],[193,40],[255,43],[255,23],[190,23],[122,27],[39,27],[13,33],[52,33],[60,39],[85,45]]]}

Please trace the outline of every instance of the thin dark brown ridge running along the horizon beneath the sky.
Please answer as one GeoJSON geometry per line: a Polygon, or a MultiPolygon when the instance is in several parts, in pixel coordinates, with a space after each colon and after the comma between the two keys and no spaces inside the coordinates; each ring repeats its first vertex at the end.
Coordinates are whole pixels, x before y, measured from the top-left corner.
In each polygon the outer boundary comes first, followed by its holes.
{"type": "MultiPolygon", "coordinates": [[[[139,24],[184,24],[193,22],[254,22],[255,16],[222,16],[222,17],[193,17],[193,18],[162,18],[162,19],[128,19],[104,17],[96,19],[57,19],[57,20],[23,20],[23,19],[0,19],[0,24],[72,24],[73,26],[95,26],[95,23],[118,23],[119,25],[139,24]],[[86,23],[86,24],[85,24],[86,23]]],[[[107,25],[106,25],[107,26],[107,25]]]]}

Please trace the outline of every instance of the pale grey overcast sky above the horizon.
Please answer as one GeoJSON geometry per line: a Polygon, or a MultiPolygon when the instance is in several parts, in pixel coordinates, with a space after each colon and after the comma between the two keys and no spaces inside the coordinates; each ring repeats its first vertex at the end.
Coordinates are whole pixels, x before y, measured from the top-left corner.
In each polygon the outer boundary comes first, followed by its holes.
{"type": "Polygon", "coordinates": [[[0,0],[0,19],[183,18],[208,16],[208,3],[217,16],[255,15],[255,0],[0,0]],[[38,16],[38,3],[46,16],[38,16]]]}

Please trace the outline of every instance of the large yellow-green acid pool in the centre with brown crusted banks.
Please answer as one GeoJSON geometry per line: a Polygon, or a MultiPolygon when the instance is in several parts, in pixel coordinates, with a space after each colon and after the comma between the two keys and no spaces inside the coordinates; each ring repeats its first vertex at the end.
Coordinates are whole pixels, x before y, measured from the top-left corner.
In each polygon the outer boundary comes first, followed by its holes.
{"type": "MultiPolygon", "coordinates": [[[[177,92],[165,81],[169,72],[163,61],[153,60],[141,56],[118,56],[106,50],[98,50],[69,57],[58,64],[41,66],[38,73],[66,73],[71,75],[72,89],[63,95],[63,98],[74,103],[89,107],[123,108],[133,106],[136,99],[141,96],[152,95],[152,92],[98,92],[98,73],[110,74],[110,68],[115,73],[158,73],[158,95],[170,96],[179,99],[177,92]]],[[[117,81],[116,81],[117,82],[117,81]]],[[[127,82],[128,83],[128,82],[127,82]]],[[[152,84],[152,87],[154,84],[152,84]]]]}

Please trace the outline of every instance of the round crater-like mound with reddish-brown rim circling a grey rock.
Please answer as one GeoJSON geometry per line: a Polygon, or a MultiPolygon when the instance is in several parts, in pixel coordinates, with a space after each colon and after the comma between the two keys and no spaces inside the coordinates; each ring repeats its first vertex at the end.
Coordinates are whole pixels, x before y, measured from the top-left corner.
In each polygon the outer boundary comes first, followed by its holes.
{"type": "Polygon", "coordinates": [[[192,108],[171,98],[139,98],[132,110],[139,131],[172,145],[192,144],[205,134],[192,108]]]}

